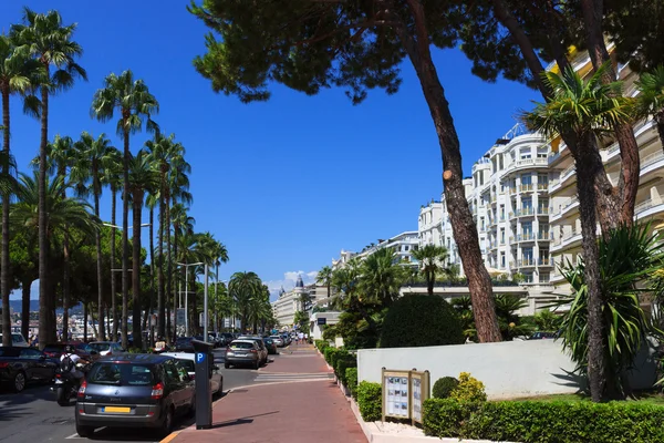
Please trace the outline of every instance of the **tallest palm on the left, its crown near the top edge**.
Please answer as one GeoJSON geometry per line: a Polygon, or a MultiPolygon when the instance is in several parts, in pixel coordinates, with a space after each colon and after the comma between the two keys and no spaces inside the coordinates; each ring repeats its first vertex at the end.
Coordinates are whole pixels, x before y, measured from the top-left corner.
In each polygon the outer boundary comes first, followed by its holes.
{"type": "Polygon", "coordinates": [[[48,292],[50,287],[46,233],[46,150],[49,144],[49,97],[73,86],[76,78],[87,79],[85,70],[76,62],[83,53],[79,43],[72,40],[76,24],[62,24],[58,11],[37,13],[23,9],[23,23],[13,24],[10,35],[17,44],[25,44],[30,53],[42,64],[40,76],[41,101],[39,106],[41,138],[39,145],[39,338],[40,346],[55,340],[54,303],[48,292]]]}

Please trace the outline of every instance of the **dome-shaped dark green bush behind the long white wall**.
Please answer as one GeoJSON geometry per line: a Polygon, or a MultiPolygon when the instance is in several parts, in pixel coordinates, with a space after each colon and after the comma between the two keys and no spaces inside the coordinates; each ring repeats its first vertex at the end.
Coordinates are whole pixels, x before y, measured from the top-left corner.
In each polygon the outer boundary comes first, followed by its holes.
{"type": "Polygon", "coordinates": [[[380,348],[464,343],[458,315],[440,297],[405,296],[396,300],[383,321],[380,348]]]}

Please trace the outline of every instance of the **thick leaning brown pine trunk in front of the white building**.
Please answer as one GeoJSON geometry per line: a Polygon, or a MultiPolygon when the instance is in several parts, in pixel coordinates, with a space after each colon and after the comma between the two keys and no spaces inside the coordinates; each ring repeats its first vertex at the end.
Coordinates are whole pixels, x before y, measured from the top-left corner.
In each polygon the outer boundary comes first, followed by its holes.
{"type": "Polygon", "coordinates": [[[454,127],[449,105],[436,66],[430,58],[429,35],[426,29],[424,9],[418,0],[407,0],[415,20],[417,41],[414,41],[403,25],[402,41],[432,114],[440,154],[443,157],[443,175],[445,200],[449,210],[454,238],[459,245],[459,255],[468,278],[468,290],[473,300],[473,315],[480,342],[501,341],[500,329],[496,318],[491,278],[487,271],[481,251],[477,226],[473,220],[463,184],[461,153],[459,140],[454,127]]]}

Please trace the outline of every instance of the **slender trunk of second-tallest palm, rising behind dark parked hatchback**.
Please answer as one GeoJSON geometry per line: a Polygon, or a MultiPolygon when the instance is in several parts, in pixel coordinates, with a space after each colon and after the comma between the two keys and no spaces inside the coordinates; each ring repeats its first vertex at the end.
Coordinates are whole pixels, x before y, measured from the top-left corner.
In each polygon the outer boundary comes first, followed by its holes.
{"type": "MultiPolygon", "coordinates": [[[[127,230],[129,229],[129,133],[124,131],[124,156],[123,175],[124,187],[122,196],[122,347],[129,348],[128,341],[128,299],[129,299],[129,243],[127,230]]],[[[134,339],[136,339],[134,337],[134,339]]]]}

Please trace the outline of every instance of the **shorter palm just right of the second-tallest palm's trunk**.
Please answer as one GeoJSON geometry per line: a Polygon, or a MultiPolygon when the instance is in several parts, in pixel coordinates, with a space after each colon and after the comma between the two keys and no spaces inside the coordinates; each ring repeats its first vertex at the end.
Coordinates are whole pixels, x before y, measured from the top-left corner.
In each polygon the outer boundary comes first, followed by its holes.
{"type": "MultiPolygon", "coordinates": [[[[141,330],[141,218],[146,190],[157,187],[157,177],[151,163],[147,151],[141,150],[136,156],[129,158],[129,196],[132,198],[133,234],[132,239],[132,296],[134,310],[132,313],[132,333],[134,336],[134,348],[143,348],[143,332],[141,330]]],[[[122,300],[123,317],[127,316],[127,299],[122,300]]]]}

